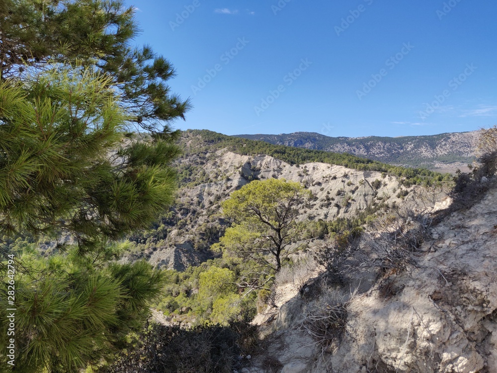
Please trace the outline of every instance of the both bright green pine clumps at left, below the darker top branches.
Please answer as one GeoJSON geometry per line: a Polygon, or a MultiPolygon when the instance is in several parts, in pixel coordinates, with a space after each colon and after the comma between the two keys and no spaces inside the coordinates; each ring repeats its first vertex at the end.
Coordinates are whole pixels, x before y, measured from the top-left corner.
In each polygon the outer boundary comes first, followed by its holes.
{"type": "MultiPolygon", "coordinates": [[[[124,107],[109,77],[88,68],[0,82],[0,233],[74,238],[48,260],[2,245],[4,257],[20,255],[18,372],[78,372],[100,362],[140,328],[161,288],[148,264],[110,262],[119,257],[112,241],[148,227],[175,187],[177,147],[160,136],[127,138],[124,107]]],[[[11,308],[7,284],[2,320],[11,308]]],[[[0,323],[0,335],[7,328],[0,323]]],[[[0,338],[2,367],[7,341],[0,338]]]]}

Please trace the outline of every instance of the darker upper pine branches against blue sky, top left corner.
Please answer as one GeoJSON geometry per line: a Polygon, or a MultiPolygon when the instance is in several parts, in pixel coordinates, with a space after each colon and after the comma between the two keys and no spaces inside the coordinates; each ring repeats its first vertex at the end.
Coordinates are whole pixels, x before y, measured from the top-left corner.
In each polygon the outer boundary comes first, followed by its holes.
{"type": "Polygon", "coordinates": [[[123,0],[0,1],[0,80],[54,63],[92,66],[122,93],[130,123],[170,135],[168,124],[184,119],[190,103],[170,92],[169,61],[132,47],[134,11],[123,0]]]}

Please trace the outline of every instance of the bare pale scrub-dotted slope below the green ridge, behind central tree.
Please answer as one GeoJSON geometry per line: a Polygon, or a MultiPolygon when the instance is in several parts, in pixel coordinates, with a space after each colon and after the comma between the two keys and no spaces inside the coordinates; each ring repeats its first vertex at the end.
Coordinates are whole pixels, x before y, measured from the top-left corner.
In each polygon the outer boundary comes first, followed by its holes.
{"type": "Polygon", "coordinates": [[[234,190],[251,180],[284,178],[302,183],[314,195],[302,219],[329,220],[352,216],[380,203],[399,202],[399,180],[380,172],[350,170],[325,163],[290,165],[270,156],[245,156],[226,149],[212,153],[186,152],[178,168],[195,165],[190,182],[181,187],[173,207],[173,220],[165,222],[166,238],[137,237],[146,248],[133,260],[145,257],[160,268],[183,271],[214,256],[209,251],[227,226],[220,204],[234,190]],[[372,186],[374,181],[376,187],[372,186]],[[148,243],[148,245],[147,245],[148,243]]]}

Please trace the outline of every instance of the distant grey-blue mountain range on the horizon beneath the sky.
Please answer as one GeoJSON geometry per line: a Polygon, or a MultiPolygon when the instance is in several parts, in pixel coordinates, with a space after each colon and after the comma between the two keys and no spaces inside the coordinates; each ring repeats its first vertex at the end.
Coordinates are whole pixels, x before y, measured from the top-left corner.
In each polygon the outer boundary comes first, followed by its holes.
{"type": "Polygon", "coordinates": [[[478,131],[405,137],[330,137],[315,132],[236,137],[275,145],[350,153],[389,164],[453,172],[476,158],[478,131]]]}

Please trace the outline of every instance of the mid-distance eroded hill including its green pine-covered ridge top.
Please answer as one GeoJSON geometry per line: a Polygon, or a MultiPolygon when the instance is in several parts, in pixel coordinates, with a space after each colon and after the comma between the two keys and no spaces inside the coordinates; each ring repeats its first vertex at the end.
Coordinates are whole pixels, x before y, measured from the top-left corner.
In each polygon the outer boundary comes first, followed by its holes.
{"type": "MultiPolygon", "coordinates": [[[[350,195],[354,205],[356,190],[360,188],[363,192],[359,179],[369,180],[371,175],[379,179],[374,184],[377,188],[384,182],[395,181],[398,186],[389,192],[394,196],[406,193],[413,185],[452,181],[450,175],[426,169],[390,166],[349,154],[272,145],[207,130],[182,132],[178,146],[183,152],[176,161],[179,190],[174,206],[151,229],[132,236],[137,258],[150,258],[154,265],[171,269],[183,270],[190,264],[213,258],[209,248],[227,226],[220,215],[220,203],[252,180],[285,177],[316,189],[319,197],[316,205],[320,208],[316,207],[315,215],[325,219],[349,216],[354,209],[340,208],[342,199],[350,195]],[[330,169],[330,175],[317,171],[324,169],[330,169]]],[[[366,199],[369,201],[369,197],[366,199]]],[[[370,202],[361,202],[361,209],[370,202]]]]}

